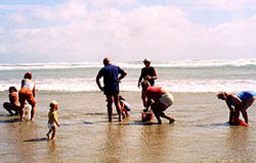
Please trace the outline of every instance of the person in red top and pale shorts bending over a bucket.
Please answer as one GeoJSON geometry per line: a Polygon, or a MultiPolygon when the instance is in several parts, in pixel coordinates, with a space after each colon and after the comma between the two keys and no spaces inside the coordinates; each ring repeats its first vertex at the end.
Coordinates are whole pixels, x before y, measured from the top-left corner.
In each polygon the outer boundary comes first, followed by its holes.
{"type": "Polygon", "coordinates": [[[148,98],[146,109],[143,111],[147,112],[150,107],[159,124],[162,123],[160,117],[166,118],[170,121],[170,123],[173,123],[175,120],[163,113],[163,111],[173,104],[172,94],[168,93],[168,91],[162,89],[161,87],[150,86],[148,81],[142,81],[141,87],[142,92],[144,93],[143,97],[148,98]]]}

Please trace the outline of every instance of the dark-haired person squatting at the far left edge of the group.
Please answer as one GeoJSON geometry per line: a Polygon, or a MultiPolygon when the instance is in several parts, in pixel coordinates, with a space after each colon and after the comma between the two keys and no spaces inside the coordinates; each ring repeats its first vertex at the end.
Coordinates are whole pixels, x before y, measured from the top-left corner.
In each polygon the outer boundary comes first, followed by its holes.
{"type": "Polygon", "coordinates": [[[4,102],[4,109],[6,109],[6,111],[8,111],[11,116],[14,115],[12,111],[15,111],[15,115],[18,115],[20,112],[19,94],[14,86],[9,88],[9,100],[10,102],[4,102]]]}

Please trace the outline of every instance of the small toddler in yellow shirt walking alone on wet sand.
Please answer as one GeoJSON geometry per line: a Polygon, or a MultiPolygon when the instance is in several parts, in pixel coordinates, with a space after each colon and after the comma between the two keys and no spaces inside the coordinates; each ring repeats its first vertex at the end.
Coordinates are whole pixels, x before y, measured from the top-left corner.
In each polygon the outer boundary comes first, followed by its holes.
{"type": "Polygon", "coordinates": [[[48,128],[49,132],[47,132],[46,136],[48,139],[54,139],[57,131],[57,127],[60,127],[60,123],[58,123],[58,114],[56,111],[58,110],[59,104],[55,100],[52,100],[50,103],[50,111],[48,113],[48,128]],[[52,137],[50,138],[50,134],[52,132],[52,137]]]}

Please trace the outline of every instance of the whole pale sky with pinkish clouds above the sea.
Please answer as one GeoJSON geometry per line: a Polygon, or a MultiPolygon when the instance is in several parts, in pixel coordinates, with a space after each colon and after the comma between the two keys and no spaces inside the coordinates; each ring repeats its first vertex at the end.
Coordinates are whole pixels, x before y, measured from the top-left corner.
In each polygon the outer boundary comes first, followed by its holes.
{"type": "Polygon", "coordinates": [[[256,58],[255,0],[1,0],[0,63],[256,58]]]}

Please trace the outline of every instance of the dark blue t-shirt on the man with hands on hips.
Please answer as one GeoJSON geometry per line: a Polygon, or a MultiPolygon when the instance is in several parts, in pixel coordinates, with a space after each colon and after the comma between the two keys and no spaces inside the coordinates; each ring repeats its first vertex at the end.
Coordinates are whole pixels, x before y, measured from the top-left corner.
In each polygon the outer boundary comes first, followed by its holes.
{"type": "Polygon", "coordinates": [[[119,93],[118,74],[123,74],[124,70],[115,65],[106,65],[99,71],[99,77],[103,77],[104,93],[115,94],[119,93]]]}

